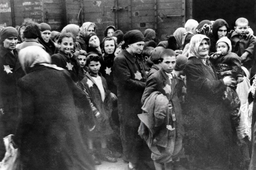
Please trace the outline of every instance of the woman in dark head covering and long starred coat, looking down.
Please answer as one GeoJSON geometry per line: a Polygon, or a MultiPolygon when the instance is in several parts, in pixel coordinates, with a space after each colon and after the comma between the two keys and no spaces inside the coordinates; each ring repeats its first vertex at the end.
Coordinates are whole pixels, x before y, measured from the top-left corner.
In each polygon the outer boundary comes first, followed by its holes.
{"type": "Polygon", "coordinates": [[[124,41],[127,48],[114,59],[113,73],[117,86],[123,154],[129,161],[128,169],[136,170],[142,148],[137,114],[142,112],[140,100],[147,80],[141,55],[145,39],[142,32],[132,30],[124,35],[124,41]]]}

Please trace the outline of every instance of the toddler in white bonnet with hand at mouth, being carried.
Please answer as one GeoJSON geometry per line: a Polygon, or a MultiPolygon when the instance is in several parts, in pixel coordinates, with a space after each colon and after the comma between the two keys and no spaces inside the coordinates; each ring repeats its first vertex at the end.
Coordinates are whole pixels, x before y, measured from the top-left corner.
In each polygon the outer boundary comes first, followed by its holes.
{"type": "MultiPolygon", "coordinates": [[[[226,76],[231,76],[238,83],[241,83],[244,80],[241,59],[235,53],[231,52],[232,46],[230,40],[227,37],[220,38],[216,43],[216,49],[217,52],[211,56],[211,61],[215,66],[218,80],[226,76]]],[[[231,110],[233,126],[238,126],[240,99],[235,89],[227,86],[223,100],[231,110]]]]}

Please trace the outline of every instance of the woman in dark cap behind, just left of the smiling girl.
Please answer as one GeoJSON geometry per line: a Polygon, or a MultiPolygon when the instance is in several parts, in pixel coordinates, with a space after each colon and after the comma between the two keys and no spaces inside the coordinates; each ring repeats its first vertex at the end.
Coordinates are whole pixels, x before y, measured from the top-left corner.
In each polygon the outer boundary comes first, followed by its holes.
{"type": "Polygon", "coordinates": [[[51,39],[51,27],[46,23],[39,24],[41,37],[39,37],[38,41],[44,46],[45,51],[52,56],[56,53],[56,46],[51,39]]]}

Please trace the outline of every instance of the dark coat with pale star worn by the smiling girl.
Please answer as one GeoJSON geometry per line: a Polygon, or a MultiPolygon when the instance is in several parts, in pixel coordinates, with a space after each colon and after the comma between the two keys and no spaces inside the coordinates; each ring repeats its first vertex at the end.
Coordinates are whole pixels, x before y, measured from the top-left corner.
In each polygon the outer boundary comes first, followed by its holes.
{"type": "Polygon", "coordinates": [[[82,70],[80,68],[80,63],[75,55],[71,53],[67,55],[62,51],[59,51],[59,53],[52,55],[51,58],[52,64],[55,64],[58,67],[61,67],[69,71],[74,82],[78,82],[83,79],[81,76],[82,70]]]}

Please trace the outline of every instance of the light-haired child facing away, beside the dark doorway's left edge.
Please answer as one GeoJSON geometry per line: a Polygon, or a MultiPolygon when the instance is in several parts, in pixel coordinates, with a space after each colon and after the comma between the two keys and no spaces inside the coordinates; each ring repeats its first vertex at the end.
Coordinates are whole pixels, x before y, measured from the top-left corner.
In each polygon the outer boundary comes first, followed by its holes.
{"type": "Polygon", "coordinates": [[[190,39],[192,38],[192,36],[194,36],[198,25],[199,25],[198,22],[194,19],[189,19],[185,23],[184,28],[186,29],[187,33],[182,39],[183,49],[185,48],[186,44],[190,42],[190,39]]]}

